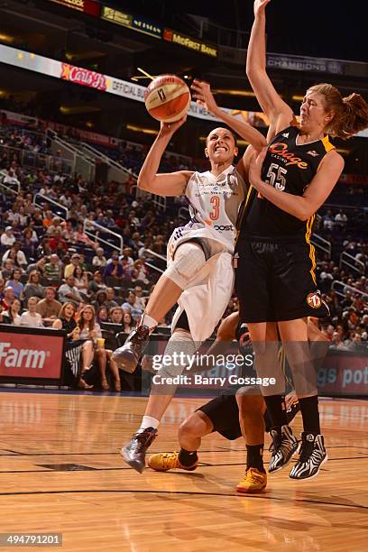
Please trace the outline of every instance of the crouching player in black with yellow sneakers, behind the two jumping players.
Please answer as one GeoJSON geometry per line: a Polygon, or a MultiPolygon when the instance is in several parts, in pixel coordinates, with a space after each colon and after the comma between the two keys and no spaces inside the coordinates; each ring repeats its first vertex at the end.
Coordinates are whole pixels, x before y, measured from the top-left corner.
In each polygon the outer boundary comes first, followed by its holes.
{"type": "MultiPolygon", "coordinates": [[[[247,327],[239,322],[237,312],[223,320],[217,330],[216,342],[207,351],[207,355],[213,354],[216,357],[222,354],[224,345],[226,348],[235,337],[239,343],[239,352],[248,354],[249,333],[247,327]]],[[[254,373],[242,375],[252,377],[254,373]]],[[[244,478],[236,485],[236,491],[261,492],[267,484],[262,454],[264,431],[269,431],[270,419],[261,394],[255,393],[253,388],[242,388],[239,391],[238,394],[234,391],[209,400],[190,414],[179,427],[179,453],[151,455],[148,465],[158,472],[175,468],[193,471],[198,467],[197,452],[202,437],[218,432],[226,439],[234,440],[243,435],[246,444],[246,470],[244,478]]],[[[286,398],[286,411],[290,423],[299,411],[298,400],[293,391],[286,398]]]]}

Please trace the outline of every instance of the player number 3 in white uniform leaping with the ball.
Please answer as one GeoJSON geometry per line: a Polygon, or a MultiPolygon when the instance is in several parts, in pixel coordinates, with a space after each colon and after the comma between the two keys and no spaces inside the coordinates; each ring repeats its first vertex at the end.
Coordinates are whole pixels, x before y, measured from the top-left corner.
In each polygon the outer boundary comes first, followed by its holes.
{"type": "MultiPolygon", "coordinates": [[[[223,112],[215,102],[209,85],[194,81],[198,102],[239,133],[255,150],[266,143],[261,133],[223,112]]],[[[133,372],[149,335],[175,303],[179,308],[172,322],[172,335],[165,350],[166,358],[180,353],[192,355],[201,342],[211,336],[223,316],[233,290],[232,255],[235,244],[235,223],[247,192],[247,153],[233,165],[237,148],[234,134],[224,127],[215,128],[207,136],[205,154],[211,169],[206,172],[179,170],[157,174],[161,156],[173,133],[184,124],[161,123],[160,133],[143,163],[138,187],[162,196],[185,195],[190,203],[191,218],[187,225],[176,228],[168,244],[168,268],[161,275],[138,322],[123,347],[113,354],[118,366],[133,372]]],[[[170,365],[160,370],[161,381],[179,375],[183,365],[170,365]]],[[[124,460],[138,472],[145,467],[145,453],[157,435],[161,417],[170,404],[176,385],[153,386],[141,427],[122,449],[124,460]]]]}

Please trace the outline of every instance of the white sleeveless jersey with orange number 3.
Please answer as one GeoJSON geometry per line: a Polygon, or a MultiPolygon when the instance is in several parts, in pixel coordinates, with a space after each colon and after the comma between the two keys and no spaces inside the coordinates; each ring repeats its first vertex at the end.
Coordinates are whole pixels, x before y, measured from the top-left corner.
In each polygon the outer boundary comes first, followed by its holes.
{"type": "Polygon", "coordinates": [[[172,258],[177,246],[192,237],[215,240],[224,245],[224,251],[233,253],[236,217],[244,194],[244,179],[233,165],[218,177],[209,170],[194,172],[185,192],[191,218],[172,233],[169,256],[172,258]]]}

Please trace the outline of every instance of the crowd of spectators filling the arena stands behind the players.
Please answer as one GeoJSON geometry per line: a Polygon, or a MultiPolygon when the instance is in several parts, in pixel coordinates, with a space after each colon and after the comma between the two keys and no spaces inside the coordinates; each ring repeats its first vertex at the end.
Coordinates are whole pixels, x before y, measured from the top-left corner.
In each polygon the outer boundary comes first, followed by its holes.
{"type": "MultiPolygon", "coordinates": [[[[131,195],[133,177],[124,184],[102,184],[66,174],[58,156],[53,170],[30,167],[19,151],[49,154],[47,139],[6,125],[1,135],[3,181],[19,183],[21,191],[7,194],[0,189],[0,321],[51,327],[60,308],[72,303],[77,317],[91,305],[97,324],[109,321],[129,331],[165,267],[157,255],[166,256],[172,230],[183,224],[178,204],[169,201],[163,212],[151,198],[136,198],[131,195]],[[46,200],[35,205],[35,193],[68,211],[58,213],[46,200]],[[121,236],[123,247],[119,242],[112,247],[114,238],[96,230],[94,223],[121,236]]],[[[134,158],[134,171],[144,155],[144,147],[117,150],[119,161],[127,165],[128,157],[134,158]]],[[[178,169],[174,158],[165,163],[167,170],[178,169]]],[[[317,230],[333,246],[331,259],[317,257],[317,283],[331,312],[322,329],[339,348],[367,343],[368,230],[354,235],[357,213],[364,216],[355,208],[326,208],[317,230]],[[338,264],[342,251],[351,256],[350,266],[338,264]]],[[[225,316],[236,308],[233,298],[225,316]]],[[[170,326],[171,315],[161,320],[162,326],[170,326]]]]}

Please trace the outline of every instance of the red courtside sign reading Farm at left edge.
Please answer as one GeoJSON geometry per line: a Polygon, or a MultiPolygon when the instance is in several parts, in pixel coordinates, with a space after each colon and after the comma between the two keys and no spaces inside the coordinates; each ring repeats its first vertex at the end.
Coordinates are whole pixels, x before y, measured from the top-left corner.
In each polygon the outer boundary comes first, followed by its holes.
{"type": "MultiPolygon", "coordinates": [[[[0,377],[60,379],[63,336],[0,331],[0,377]]],[[[49,332],[47,332],[49,333],[49,332]]]]}

